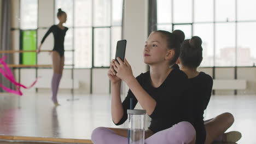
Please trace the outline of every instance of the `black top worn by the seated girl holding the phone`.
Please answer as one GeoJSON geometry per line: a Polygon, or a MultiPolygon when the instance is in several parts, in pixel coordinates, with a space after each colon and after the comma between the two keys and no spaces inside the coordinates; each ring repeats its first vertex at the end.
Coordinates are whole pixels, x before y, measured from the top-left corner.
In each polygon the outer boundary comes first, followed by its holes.
{"type": "MultiPolygon", "coordinates": [[[[188,94],[188,76],[179,69],[173,69],[165,81],[155,88],[151,85],[150,72],[142,73],[136,77],[143,89],[156,101],[156,107],[150,115],[152,121],[149,129],[153,133],[171,128],[182,121],[193,123],[191,97],[188,94]]],[[[127,109],[130,109],[130,98],[133,99],[132,108],[138,100],[129,89],[123,101],[124,115],[116,125],[123,124],[127,119],[127,109]]]]}

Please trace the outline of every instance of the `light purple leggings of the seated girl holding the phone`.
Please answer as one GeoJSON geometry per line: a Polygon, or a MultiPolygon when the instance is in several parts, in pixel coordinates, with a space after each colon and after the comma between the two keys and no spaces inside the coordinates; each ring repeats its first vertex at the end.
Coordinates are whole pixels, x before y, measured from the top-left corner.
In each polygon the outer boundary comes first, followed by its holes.
{"type": "MultiPolygon", "coordinates": [[[[173,127],[159,131],[145,140],[145,144],[187,144],[193,141],[195,129],[189,122],[180,122],[173,127]]],[[[92,131],[94,144],[127,144],[127,137],[117,135],[113,130],[99,127],[92,131]]]]}

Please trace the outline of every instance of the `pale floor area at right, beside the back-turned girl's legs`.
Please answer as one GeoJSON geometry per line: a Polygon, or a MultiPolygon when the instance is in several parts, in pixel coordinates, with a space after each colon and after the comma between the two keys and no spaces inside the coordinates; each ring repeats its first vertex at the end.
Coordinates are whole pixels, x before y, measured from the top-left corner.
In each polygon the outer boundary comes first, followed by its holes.
{"type": "Polygon", "coordinates": [[[256,143],[256,95],[212,97],[206,111],[206,119],[223,112],[230,112],[235,117],[235,122],[228,131],[237,130],[242,133],[242,139],[237,143],[256,143]]]}

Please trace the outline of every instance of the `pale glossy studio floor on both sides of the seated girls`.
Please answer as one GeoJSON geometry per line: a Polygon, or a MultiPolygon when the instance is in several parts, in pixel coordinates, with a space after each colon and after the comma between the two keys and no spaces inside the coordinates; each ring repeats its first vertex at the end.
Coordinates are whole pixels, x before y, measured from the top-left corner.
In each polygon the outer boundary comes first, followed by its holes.
{"type": "MultiPolygon", "coordinates": [[[[76,94],[78,100],[67,100],[71,94],[60,94],[61,106],[57,107],[49,93],[0,95],[0,139],[91,143],[93,129],[117,127],[110,118],[110,95],[76,94]]],[[[256,95],[214,96],[205,117],[231,112],[235,123],[228,131],[241,131],[238,144],[252,144],[256,143],[255,111],[256,95]]]]}

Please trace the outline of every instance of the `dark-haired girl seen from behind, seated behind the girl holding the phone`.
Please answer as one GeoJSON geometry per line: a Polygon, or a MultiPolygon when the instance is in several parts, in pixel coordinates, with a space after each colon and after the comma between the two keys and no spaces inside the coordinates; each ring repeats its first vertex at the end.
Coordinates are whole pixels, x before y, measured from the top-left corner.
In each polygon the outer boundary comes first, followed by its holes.
{"type": "MultiPolygon", "coordinates": [[[[223,113],[208,121],[203,121],[203,113],[210,101],[213,80],[210,75],[197,71],[202,62],[202,40],[192,37],[184,40],[177,64],[188,75],[189,91],[193,96],[194,128],[197,144],[210,144],[215,141],[236,142],[241,138],[238,131],[224,132],[234,123],[231,113],[223,113]]],[[[178,67],[176,67],[178,68],[178,67]]]]}

